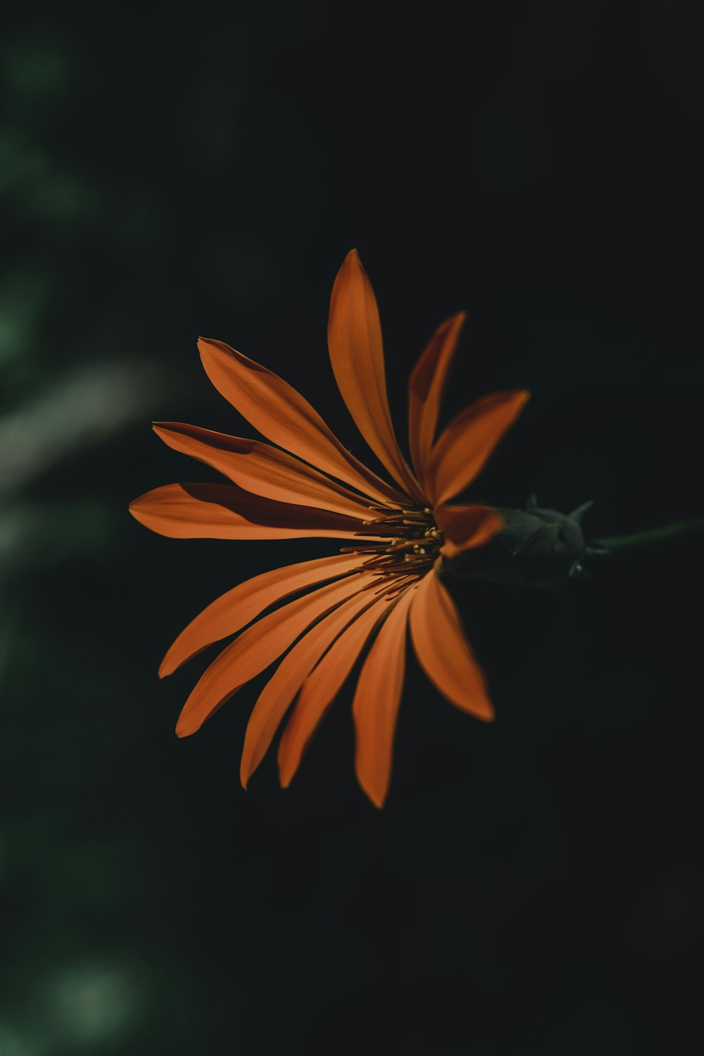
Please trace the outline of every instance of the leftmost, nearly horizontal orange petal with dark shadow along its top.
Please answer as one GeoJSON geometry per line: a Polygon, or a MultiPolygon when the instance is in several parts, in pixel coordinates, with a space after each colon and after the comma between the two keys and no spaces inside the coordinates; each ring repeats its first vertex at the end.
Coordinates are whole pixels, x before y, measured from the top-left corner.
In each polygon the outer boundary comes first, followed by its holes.
{"type": "Polygon", "coordinates": [[[130,513],[170,539],[370,538],[355,517],[275,503],[234,484],[168,484],[135,498],[130,513]]]}

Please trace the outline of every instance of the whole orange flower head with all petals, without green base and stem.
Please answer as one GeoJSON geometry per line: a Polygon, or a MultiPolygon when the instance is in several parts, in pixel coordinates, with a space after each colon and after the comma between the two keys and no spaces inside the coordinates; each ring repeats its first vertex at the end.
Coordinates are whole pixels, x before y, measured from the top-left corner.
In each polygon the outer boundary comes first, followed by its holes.
{"type": "Polygon", "coordinates": [[[459,314],[439,326],[411,375],[412,470],[394,433],[377,302],[356,250],[338,274],[328,322],[332,371],[360,432],[395,485],[353,457],[294,389],[220,341],[198,341],[208,377],[279,447],[195,426],[154,426],[170,447],[231,483],[172,484],[148,492],[130,506],[148,528],[176,539],[319,535],[346,542],[337,555],[235,586],[182,631],[161,662],[159,675],[170,675],[212,642],[246,627],[186,701],[176,725],[177,735],[186,737],[285,654],[249,719],[241,767],[245,788],[293,705],[279,744],[281,784],[289,785],[318,723],[370,641],[353,703],[355,763],[360,785],[381,807],[391,778],[407,629],[436,689],[477,718],[493,718],[483,675],[435,569],[441,555],[481,546],[500,529],[500,517],[487,506],[448,504],[479,473],[529,394],[484,396],[435,439],[463,322],[459,314]]]}

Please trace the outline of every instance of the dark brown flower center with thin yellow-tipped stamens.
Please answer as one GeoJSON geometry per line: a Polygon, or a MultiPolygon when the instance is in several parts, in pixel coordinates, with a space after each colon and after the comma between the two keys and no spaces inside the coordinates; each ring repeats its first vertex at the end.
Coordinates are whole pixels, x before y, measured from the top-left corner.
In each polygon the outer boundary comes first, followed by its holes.
{"type": "Polygon", "coordinates": [[[406,586],[406,581],[430,571],[444,542],[430,506],[424,509],[370,506],[369,509],[373,515],[364,524],[374,528],[375,534],[388,539],[365,542],[360,538],[356,546],[345,546],[341,552],[359,553],[364,569],[377,572],[384,581],[393,580],[394,586],[406,586]]]}

